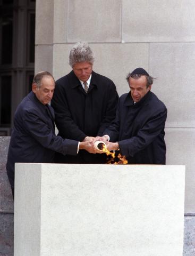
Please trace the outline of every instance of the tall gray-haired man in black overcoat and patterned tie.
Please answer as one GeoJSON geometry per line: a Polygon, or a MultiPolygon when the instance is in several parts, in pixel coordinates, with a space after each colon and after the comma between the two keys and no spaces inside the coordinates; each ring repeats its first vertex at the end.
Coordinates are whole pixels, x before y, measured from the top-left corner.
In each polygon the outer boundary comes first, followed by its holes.
{"type": "MultiPolygon", "coordinates": [[[[77,43],[69,55],[72,71],[56,81],[52,100],[62,138],[93,141],[115,118],[118,94],[111,79],[95,73],[87,43],[77,43]]],[[[105,163],[106,155],[80,150],[77,156],[56,155],[58,163],[105,163]]]]}

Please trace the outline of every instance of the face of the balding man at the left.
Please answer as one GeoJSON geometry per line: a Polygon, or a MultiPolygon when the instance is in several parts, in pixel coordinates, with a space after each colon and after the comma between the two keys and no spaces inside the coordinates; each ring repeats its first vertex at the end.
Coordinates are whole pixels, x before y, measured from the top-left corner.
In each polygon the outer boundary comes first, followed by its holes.
{"type": "Polygon", "coordinates": [[[44,76],[41,79],[41,85],[38,87],[36,84],[32,84],[32,91],[36,94],[37,99],[46,105],[52,100],[55,89],[55,81],[50,76],[44,76]]]}

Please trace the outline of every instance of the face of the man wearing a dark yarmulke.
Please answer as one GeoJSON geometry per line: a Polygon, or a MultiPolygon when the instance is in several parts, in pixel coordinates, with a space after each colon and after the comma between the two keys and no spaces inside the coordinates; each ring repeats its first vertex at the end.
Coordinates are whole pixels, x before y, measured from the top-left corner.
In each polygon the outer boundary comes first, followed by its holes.
{"type": "Polygon", "coordinates": [[[151,89],[151,85],[146,87],[147,79],[146,76],[141,76],[138,79],[134,79],[132,77],[129,78],[129,87],[131,89],[131,97],[134,102],[140,101],[143,96],[146,95],[148,91],[151,89]]]}

